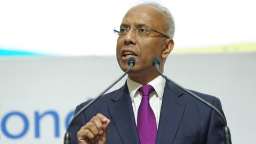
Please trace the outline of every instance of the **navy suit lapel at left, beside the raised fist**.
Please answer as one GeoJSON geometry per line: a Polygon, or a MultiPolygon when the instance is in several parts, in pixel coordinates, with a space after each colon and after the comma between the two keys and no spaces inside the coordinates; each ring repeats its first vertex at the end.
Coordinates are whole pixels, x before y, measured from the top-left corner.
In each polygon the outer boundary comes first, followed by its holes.
{"type": "Polygon", "coordinates": [[[111,100],[115,103],[108,110],[123,143],[139,144],[137,126],[127,85],[125,84],[111,100]]]}

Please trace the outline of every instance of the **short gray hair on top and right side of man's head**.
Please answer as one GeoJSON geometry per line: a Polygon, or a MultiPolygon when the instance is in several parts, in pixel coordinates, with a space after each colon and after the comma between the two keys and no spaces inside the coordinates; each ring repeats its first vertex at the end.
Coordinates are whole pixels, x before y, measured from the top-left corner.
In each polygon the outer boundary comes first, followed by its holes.
{"type": "Polygon", "coordinates": [[[154,6],[157,10],[161,11],[164,14],[164,17],[166,18],[166,35],[173,39],[174,36],[174,31],[175,31],[175,23],[174,23],[174,18],[171,14],[171,12],[163,5],[155,3],[155,2],[146,2],[146,3],[141,3],[141,4],[148,4],[151,6],[154,6]]]}

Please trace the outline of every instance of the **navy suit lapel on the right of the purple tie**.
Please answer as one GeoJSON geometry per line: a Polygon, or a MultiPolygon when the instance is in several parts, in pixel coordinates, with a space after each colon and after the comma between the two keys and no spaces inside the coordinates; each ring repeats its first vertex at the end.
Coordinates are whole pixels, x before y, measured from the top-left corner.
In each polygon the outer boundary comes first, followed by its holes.
{"type": "Polygon", "coordinates": [[[182,94],[181,90],[166,82],[157,130],[157,144],[173,142],[186,108],[186,102],[181,99],[182,94]]]}

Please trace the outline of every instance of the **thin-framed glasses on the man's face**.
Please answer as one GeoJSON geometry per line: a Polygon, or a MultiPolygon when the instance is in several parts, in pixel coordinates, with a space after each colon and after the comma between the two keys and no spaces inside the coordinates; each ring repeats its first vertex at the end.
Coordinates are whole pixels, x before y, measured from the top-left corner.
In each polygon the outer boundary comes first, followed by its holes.
{"type": "MultiPolygon", "coordinates": [[[[122,36],[122,35],[126,35],[127,33],[129,33],[129,30],[130,30],[130,27],[128,27],[128,26],[121,26],[121,27],[118,27],[118,28],[114,28],[114,33],[122,36]]],[[[156,31],[154,29],[151,29],[149,27],[137,26],[137,27],[133,28],[133,33],[134,34],[137,33],[141,37],[149,36],[150,31],[154,31],[157,34],[160,34],[160,35],[162,35],[162,36],[164,36],[166,38],[169,38],[169,36],[166,36],[166,35],[158,32],[158,31],[156,31]]]]}

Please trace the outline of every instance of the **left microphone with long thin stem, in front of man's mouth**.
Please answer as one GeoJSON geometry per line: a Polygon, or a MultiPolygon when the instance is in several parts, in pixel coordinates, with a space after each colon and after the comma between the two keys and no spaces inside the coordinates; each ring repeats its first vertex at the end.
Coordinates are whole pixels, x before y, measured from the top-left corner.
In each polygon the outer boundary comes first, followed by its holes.
{"type": "Polygon", "coordinates": [[[74,117],[71,119],[71,121],[70,121],[70,123],[69,123],[69,125],[68,125],[68,129],[67,129],[67,131],[66,131],[66,133],[65,133],[64,144],[70,144],[70,142],[71,142],[70,128],[71,128],[73,122],[75,121],[75,119],[76,119],[81,113],[83,113],[83,111],[84,111],[85,109],[87,109],[87,107],[91,106],[94,101],[96,101],[97,99],[99,99],[99,98],[101,97],[101,95],[103,95],[104,93],[106,93],[111,87],[113,87],[117,82],[119,82],[126,74],[128,74],[128,73],[131,71],[132,67],[134,67],[134,65],[135,65],[135,59],[134,59],[133,57],[129,58],[129,60],[128,60],[128,65],[129,65],[129,68],[125,71],[125,73],[124,73],[121,77],[119,77],[118,79],[116,79],[116,81],[115,81],[114,83],[112,83],[111,85],[109,85],[106,90],[102,91],[96,98],[94,98],[92,101],[90,101],[89,103],[87,103],[87,105],[85,105],[84,107],[82,107],[82,108],[74,115],[74,117]]]}

